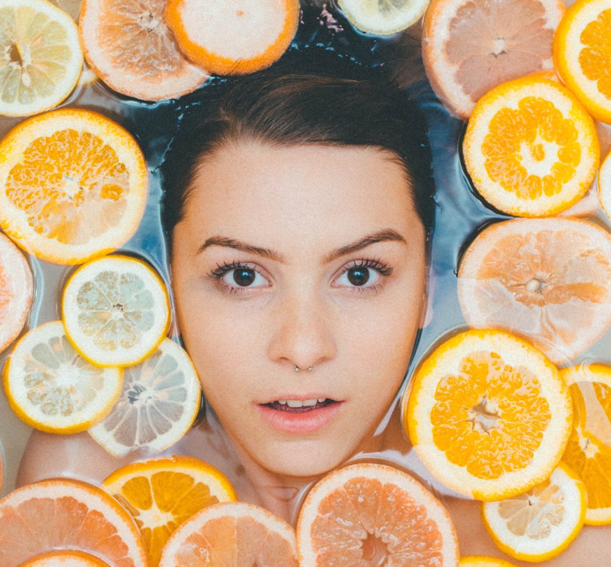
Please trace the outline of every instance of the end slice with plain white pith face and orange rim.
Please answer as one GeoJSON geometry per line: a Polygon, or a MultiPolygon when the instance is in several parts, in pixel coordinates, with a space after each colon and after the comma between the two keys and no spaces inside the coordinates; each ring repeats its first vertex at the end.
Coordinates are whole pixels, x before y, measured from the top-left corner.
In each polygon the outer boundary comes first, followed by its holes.
{"type": "Polygon", "coordinates": [[[178,46],[210,73],[268,67],[287,50],[299,24],[299,0],[167,0],[178,46]]]}

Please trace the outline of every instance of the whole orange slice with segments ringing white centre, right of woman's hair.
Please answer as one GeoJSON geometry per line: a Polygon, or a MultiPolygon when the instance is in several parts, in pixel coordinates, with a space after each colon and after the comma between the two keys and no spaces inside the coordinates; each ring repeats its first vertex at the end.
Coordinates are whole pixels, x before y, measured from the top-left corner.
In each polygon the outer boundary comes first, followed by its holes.
{"type": "Polygon", "coordinates": [[[599,164],[594,121],[551,79],[514,79],[482,96],[463,140],[475,189],[510,215],[541,217],[585,195],[599,164]]]}

